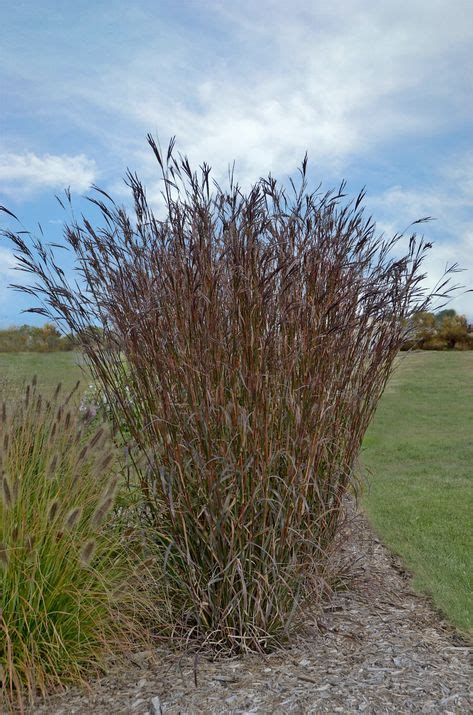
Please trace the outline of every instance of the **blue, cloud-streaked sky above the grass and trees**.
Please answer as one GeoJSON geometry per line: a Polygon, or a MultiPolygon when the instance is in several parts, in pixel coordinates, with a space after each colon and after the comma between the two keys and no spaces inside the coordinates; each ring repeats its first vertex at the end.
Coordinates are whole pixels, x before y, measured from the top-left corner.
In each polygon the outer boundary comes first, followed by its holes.
{"type": "MultiPolygon", "coordinates": [[[[151,132],[223,181],[310,179],[367,191],[380,231],[422,232],[426,285],[473,288],[471,0],[37,0],[0,25],[0,204],[60,240],[91,184],[125,205],[129,167],[159,202],[151,132]]],[[[8,217],[4,227],[15,227],[8,217]]],[[[18,228],[18,225],[16,225],[18,228]]],[[[0,239],[0,326],[42,322],[0,239]]],[[[449,307],[473,320],[473,293],[449,307]]]]}

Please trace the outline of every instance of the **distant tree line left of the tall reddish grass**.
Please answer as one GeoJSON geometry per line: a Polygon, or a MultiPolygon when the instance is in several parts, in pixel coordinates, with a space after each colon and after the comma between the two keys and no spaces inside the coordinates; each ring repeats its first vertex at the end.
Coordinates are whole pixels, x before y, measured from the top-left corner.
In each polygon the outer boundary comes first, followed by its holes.
{"type": "Polygon", "coordinates": [[[74,347],[74,339],[61,335],[51,323],[42,327],[21,325],[0,330],[0,352],[3,353],[52,353],[73,350],[74,347]]]}

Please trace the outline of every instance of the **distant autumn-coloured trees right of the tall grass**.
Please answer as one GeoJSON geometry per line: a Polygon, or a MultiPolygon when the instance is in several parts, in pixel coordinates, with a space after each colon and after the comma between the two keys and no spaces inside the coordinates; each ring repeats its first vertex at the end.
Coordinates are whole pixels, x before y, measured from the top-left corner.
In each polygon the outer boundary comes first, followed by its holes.
{"type": "Polygon", "coordinates": [[[411,333],[403,350],[473,350],[473,325],[455,310],[423,311],[411,319],[411,333]]]}

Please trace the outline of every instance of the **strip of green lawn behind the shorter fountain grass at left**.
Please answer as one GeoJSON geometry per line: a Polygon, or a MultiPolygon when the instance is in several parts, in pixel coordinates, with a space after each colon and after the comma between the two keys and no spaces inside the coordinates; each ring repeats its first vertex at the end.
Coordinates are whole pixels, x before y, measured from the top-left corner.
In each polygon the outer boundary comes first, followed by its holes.
{"type": "Polygon", "coordinates": [[[46,396],[51,395],[58,382],[64,391],[71,390],[80,380],[84,388],[87,378],[80,367],[79,353],[0,353],[0,379],[21,386],[33,375],[38,377],[38,387],[46,396]]]}

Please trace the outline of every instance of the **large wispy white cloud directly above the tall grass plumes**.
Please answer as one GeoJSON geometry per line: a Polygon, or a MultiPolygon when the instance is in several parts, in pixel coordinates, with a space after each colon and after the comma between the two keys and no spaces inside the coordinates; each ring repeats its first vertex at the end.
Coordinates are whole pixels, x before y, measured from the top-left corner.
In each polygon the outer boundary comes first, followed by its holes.
{"type": "MultiPolygon", "coordinates": [[[[423,0],[402,9],[345,1],[296,1],[290,12],[269,0],[204,6],[215,23],[208,43],[189,34],[176,34],[172,48],[143,43],[131,61],[104,67],[94,86],[69,91],[113,115],[115,127],[120,120],[136,127],[137,138],[176,134],[181,151],[212,164],[218,179],[236,159],[243,183],[269,170],[292,172],[306,149],[325,174],[339,173],[384,141],[435,134],[471,112],[471,3],[456,12],[423,0]],[[216,44],[216,27],[229,32],[227,45],[216,44]]],[[[115,127],[106,136],[107,125],[104,141],[119,142],[115,127]]],[[[136,162],[151,171],[145,152],[136,162]]]]}

